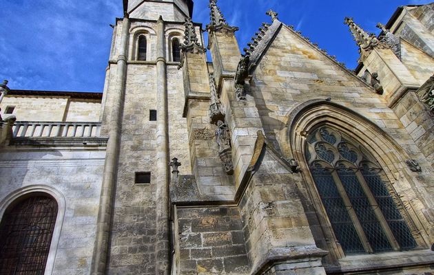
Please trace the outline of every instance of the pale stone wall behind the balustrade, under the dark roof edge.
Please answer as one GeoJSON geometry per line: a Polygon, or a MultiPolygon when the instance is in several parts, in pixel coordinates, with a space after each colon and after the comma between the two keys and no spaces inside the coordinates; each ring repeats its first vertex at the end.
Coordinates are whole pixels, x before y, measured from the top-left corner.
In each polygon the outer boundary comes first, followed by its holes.
{"type": "Polygon", "coordinates": [[[6,107],[15,107],[18,121],[98,122],[101,100],[79,100],[64,96],[6,96],[0,104],[1,116],[6,107]]]}

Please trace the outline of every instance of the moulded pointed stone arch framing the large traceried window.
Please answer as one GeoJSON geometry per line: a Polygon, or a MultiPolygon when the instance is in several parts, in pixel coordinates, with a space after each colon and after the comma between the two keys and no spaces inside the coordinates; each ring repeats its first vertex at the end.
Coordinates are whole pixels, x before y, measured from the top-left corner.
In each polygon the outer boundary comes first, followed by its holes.
{"type": "MultiPolygon", "coordinates": [[[[320,191],[314,179],[315,176],[312,175],[311,166],[307,159],[306,152],[309,151],[307,140],[321,127],[328,127],[341,133],[342,136],[351,137],[353,143],[359,144],[360,148],[365,148],[366,150],[364,150],[372,155],[375,163],[384,171],[382,175],[384,175],[386,189],[397,208],[400,209],[403,219],[409,225],[417,246],[427,247],[430,225],[422,214],[422,208],[425,204],[423,199],[415,202],[421,196],[415,188],[414,181],[417,179],[412,179],[411,171],[405,165],[405,159],[409,157],[407,153],[393,137],[364,116],[340,104],[318,99],[304,102],[289,112],[286,126],[282,131],[282,135],[284,135],[282,136],[282,148],[287,154],[286,157],[295,158],[304,172],[302,173],[302,182],[305,186],[302,188],[306,190],[307,197],[317,213],[324,233],[323,237],[335,240],[328,243],[329,247],[326,249],[332,251],[333,256],[337,259],[345,256],[344,250],[333,232],[333,226],[327,216],[327,210],[324,208],[320,191]],[[402,196],[397,190],[406,190],[406,196],[402,196]]],[[[324,150],[338,152],[338,148],[331,147],[333,147],[331,144],[324,144],[324,150]]],[[[330,156],[328,162],[338,164],[338,159],[335,156],[330,156]]],[[[348,166],[344,162],[340,164],[348,166]]]]}

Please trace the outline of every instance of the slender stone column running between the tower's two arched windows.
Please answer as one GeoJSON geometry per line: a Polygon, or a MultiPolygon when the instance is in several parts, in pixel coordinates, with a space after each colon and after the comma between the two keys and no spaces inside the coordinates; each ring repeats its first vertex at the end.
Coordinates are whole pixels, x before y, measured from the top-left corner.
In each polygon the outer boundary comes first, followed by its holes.
{"type": "Polygon", "coordinates": [[[156,274],[169,274],[169,129],[164,21],[157,21],[156,274]]]}

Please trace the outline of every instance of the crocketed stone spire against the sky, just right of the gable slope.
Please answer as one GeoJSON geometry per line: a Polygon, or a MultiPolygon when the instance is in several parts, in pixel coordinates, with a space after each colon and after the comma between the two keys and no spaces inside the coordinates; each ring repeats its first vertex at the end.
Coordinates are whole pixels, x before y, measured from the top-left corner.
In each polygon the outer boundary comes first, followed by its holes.
{"type": "Polygon", "coordinates": [[[363,62],[366,57],[369,56],[369,53],[382,43],[377,39],[375,34],[368,34],[359,25],[354,23],[352,18],[345,17],[344,23],[349,25],[350,32],[354,36],[354,40],[357,45],[360,47],[360,59],[359,62],[363,62]]]}

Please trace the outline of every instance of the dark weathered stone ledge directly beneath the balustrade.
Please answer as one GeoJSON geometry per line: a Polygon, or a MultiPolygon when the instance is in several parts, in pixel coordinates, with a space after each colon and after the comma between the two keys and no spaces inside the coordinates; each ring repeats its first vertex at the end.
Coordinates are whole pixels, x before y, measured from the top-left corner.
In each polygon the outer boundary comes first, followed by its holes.
{"type": "Polygon", "coordinates": [[[108,137],[15,137],[14,146],[106,146],[108,137]]]}

